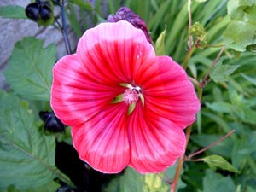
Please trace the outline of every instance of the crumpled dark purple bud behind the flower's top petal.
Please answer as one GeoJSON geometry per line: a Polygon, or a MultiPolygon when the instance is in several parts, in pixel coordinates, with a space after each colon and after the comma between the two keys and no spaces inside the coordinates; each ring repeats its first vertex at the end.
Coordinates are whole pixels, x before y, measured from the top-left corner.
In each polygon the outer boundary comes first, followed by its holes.
{"type": "Polygon", "coordinates": [[[145,21],[137,14],[131,11],[131,9],[126,7],[121,7],[115,15],[108,16],[108,22],[117,22],[119,20],[127,20],[132,26],[143,30],[148,42],[152,44],[151,38],[148,33],[148,26],[145,21]]]}

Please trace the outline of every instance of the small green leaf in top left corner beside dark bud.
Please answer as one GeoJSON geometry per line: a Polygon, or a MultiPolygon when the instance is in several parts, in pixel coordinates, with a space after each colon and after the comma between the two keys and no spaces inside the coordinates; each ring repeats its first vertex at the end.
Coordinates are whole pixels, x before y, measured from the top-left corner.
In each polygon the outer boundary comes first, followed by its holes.
{"type": "Polygon", "coordinates": [[[12,5],[0,7],[0,16],[12,19],[27,19],[23,7],[12,5]]]}

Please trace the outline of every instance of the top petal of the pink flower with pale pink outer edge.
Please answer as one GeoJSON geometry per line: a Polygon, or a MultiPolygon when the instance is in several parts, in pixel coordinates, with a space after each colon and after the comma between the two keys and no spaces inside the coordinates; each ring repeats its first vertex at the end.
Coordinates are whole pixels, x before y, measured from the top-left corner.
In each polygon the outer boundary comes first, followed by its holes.
{"type": "Polygon", "coordinates": [[[143,31],[129,22],[102,23],[84,33],[77,53],[91,79],[132,84],[140,64],[154,49],[143,31]]]}

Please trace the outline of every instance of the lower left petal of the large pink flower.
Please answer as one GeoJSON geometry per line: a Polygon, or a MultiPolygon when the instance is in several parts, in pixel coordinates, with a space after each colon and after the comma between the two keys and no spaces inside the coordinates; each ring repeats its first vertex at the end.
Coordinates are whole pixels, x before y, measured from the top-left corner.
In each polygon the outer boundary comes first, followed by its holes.
{"type": "Polygon", "coordinates": [[[125,115],[127,105],[113,104],[84,125],[72,128],[81,160],[105,173],[121,172],[131,160],[125,115]]]}

